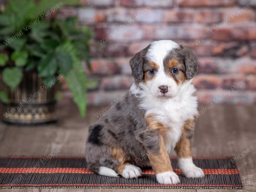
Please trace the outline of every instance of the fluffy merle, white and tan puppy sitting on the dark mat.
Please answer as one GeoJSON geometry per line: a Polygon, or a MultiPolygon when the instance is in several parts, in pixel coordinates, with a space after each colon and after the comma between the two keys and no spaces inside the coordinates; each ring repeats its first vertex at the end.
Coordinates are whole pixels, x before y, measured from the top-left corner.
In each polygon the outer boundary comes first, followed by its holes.
{"type": "Polygon", "coordinates": [[[142,175],[139,166],[152,166],[159,183],[176,184],[180,180],[169,158],[175,150],[183,175],[203,177],[191,154],[198,113],[191,84],[198,69],[195,54],[174,41],[154,41],[130,66],[135,79],[130,94],[90,126],[88,169],[131,179],[142,175]]]}

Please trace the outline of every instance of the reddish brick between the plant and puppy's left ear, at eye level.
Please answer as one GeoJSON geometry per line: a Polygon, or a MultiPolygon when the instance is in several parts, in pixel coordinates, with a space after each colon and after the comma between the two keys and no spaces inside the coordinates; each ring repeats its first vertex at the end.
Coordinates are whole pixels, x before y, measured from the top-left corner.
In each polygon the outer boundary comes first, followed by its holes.
{"type": "Polygon", "coordinates": [[[119,67],[117,64],[108,59],[92,59],[91,71],[87,70],[87,73],[93,75],[113,75],[119,73],[119,67]]]}

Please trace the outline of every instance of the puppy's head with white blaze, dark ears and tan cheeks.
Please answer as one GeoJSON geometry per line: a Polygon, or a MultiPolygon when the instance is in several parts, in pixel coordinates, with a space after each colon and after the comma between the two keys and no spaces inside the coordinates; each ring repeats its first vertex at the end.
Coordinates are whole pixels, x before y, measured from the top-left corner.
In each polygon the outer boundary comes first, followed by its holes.
{"type": "Polygon", "coordinates": [[[131,58],[136,84],[156,97],[174,97],[182,84],[197,73],[198,60],[187,46],[174,41],[154,41],[131,58]]]}

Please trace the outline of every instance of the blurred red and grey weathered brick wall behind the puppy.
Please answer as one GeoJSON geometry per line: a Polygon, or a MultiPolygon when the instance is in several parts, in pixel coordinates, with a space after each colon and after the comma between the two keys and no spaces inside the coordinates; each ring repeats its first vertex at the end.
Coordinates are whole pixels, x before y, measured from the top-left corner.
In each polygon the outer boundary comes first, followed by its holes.
{"type": "MultiPolygon", "coordinates": [[[[133,83],[129,59],[171,39],[198,55],[193,83],[202,103],[256,103],[256,0],[81,0],[77,15],[95,31],[89,103],[107,104],[133,83]]],[[[69,93],[67,93],[68,95],[69,93]]]]}

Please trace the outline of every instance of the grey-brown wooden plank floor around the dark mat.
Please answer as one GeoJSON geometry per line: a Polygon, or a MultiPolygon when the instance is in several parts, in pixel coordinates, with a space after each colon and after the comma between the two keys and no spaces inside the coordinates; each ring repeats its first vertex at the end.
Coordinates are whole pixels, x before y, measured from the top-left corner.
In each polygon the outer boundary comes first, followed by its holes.
{"type": "MultiPolygon", "coordinates": [[[[199,110],[207,106],[200,106],[199,110]]],[[[84,156],[88,125],[96,121],[102,107],[88,108],[81,119],[74,105],[60,105],[57,124],[14,126],[0,122],[0,155],[48,155],[58,147],[59,156],[84,156]]],[[[204,110],[205,111],[205,110],[204,110]]],[[[234,156],[244,189],[221,191],[256,191],[256,105],[216,105],[201,114],[192,143],[193,156],[234,156]],[[248,148],[252,148],[246,152],[248,148]],[[240,158],[241,157],[241,158],[240,158]]],[[[15,192],[153,192],[156,189],[2,189],[15,192]]],[[[158,189],[161,192],[215,192],[214,189],[158,189]]]]}

